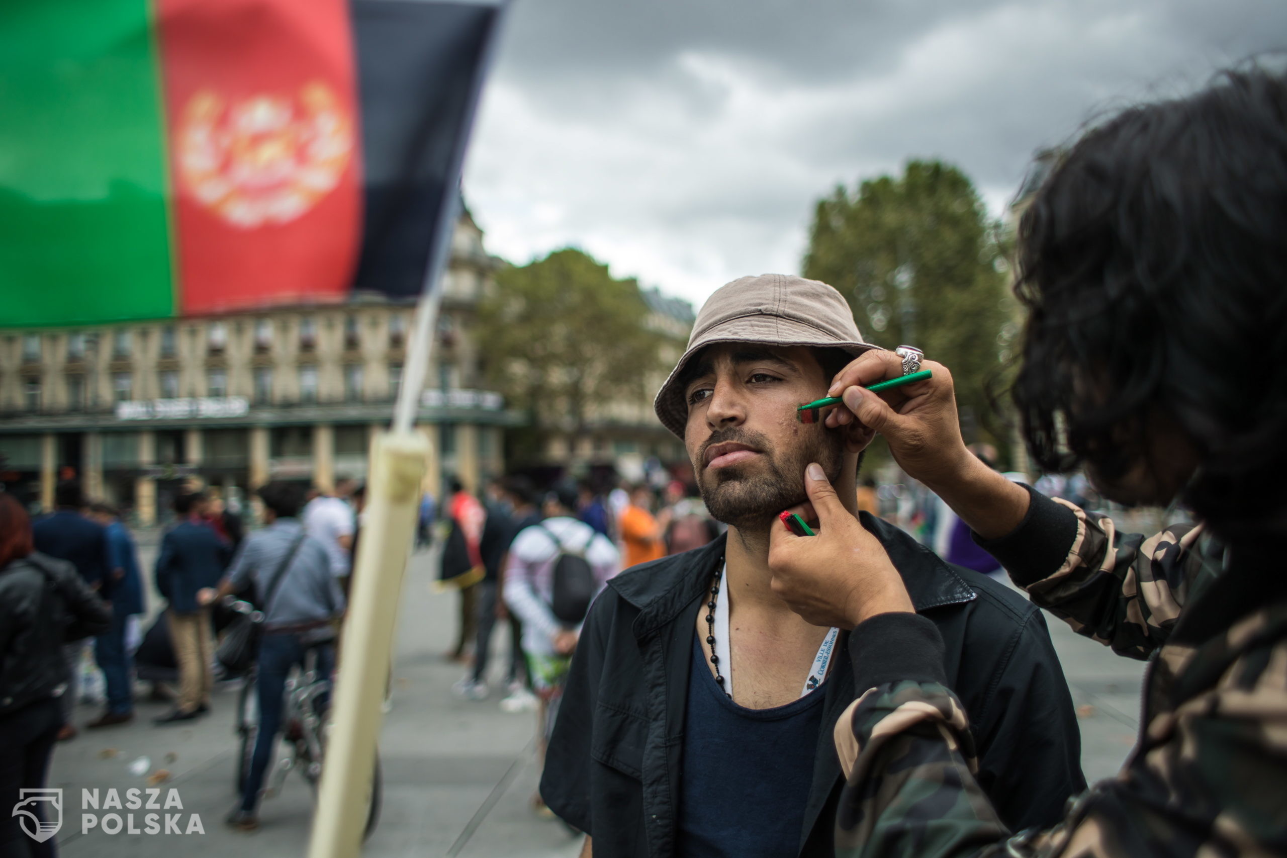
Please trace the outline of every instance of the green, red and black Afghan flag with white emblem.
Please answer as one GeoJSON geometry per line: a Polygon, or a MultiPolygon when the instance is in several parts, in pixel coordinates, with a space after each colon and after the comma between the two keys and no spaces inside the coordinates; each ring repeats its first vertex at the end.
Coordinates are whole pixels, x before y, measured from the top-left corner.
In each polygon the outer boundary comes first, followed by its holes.
{"type": "Polygon", "coordinates": [[[498,6],[0,5],[0,326],[417,295],[498,6]]]}

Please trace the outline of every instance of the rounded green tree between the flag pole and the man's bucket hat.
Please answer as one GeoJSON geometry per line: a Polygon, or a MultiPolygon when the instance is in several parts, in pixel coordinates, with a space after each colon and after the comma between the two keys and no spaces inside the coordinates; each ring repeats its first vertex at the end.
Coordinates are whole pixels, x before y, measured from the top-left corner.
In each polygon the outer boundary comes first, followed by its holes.
{"type": "Polygon", "coordinates": [[[538,459],[550,432],[580,433],[604,403],[647,398],[659,336],[633,278],[575,249],[497,273],[479,307],[484,371],[532,426],[514,451],[538,459]]]}

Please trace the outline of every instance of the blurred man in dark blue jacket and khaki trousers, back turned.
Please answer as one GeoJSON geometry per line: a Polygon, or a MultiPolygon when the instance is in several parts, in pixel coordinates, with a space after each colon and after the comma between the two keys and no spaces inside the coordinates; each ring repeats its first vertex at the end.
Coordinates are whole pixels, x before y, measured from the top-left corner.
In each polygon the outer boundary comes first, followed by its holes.
{"type": "Polygon", "coordinates": [[[174,711],[157,724],[189,721],[210,711],[210,672],[214,638],[210,608],[197,600],[197,591],[219,584],[228,566],[230,548],[203,520],[206,496],[184,492],[174,499],[179,523],[161,540],[157,557],[157,590],[166,598],[170,640],[179,662],[179,700],[174,711]]]}

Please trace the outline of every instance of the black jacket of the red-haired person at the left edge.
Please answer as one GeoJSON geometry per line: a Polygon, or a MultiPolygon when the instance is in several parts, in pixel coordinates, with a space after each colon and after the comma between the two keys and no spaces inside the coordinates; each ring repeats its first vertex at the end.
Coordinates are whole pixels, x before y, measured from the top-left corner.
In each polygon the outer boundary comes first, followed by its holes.
{"type": "Polygon", "coordinates": [[[63,643],[107,631],[112,608],[66,560],[31,554],[0,569],[0,715],[58,693],[63,643]]]}

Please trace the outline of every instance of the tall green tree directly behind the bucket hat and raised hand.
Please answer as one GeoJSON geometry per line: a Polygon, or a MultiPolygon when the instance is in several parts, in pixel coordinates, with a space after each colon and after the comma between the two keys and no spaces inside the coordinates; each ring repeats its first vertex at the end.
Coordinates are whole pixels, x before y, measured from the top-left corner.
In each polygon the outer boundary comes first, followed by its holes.
{"type": "Polygon", "coordinates": [[[1006,446],[986,420],[988,381],[1015,332],[997,234],[964,173],[910,161],[902,176],[819,201],[804,276],[840,290],[867,341],[916,345],[946,365],[967,439],[1006,446]]]}

